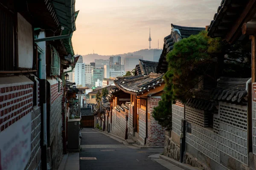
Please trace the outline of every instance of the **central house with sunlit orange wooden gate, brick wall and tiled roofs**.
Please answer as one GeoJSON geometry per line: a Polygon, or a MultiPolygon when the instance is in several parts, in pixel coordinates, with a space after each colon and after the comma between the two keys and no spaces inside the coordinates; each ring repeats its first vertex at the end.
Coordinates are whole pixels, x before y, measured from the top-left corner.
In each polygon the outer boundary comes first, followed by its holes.
{"type": "MultiPolygon", "coordinates": [[[[163,51],[159,62],[140,60],[135,68],[135,76],[117,77],[117,80],[114,81],[122,92],[131,95],[128,137],[134,139],[137,144],[164,145],[165,129],[154,120],[152,111],[154,107],[158,106],[163,93],[163,74],[168,68],[166,54],[172,50],[175,42],[192,34],[198,34],[203,30],[205,28],[183,27],[172,24],[171,34],[164,38],[163,51]]],[[[115,102],[111,102],[111,104],[115,105],[115,102]]],[[[112,128],[113,124],[112,118],[112,128]]]]}

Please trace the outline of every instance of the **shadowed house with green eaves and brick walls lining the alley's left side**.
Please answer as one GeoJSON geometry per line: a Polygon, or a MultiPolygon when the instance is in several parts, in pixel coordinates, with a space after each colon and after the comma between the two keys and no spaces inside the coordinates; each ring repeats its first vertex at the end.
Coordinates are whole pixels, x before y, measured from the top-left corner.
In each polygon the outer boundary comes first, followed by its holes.
{"type": "Polygon", "coordinates": [[[44,0],[0,2],[1,159],[9,158],[21,141],[27,146],[19,158],[13,157],[9,164],[2,161],[0,167],[6,169],[53,168],[63,156],[62,79],[69,65],[61,61],[73,56],[71,37],[76,28],[74,6],[55,5],[44,0]],[[63,7],[67,10],[59,13],[63,7]],[[66,12],[72,17],[60,20],[66,12]],[[61,37],[65,31],[69,36],[61,37]]]}

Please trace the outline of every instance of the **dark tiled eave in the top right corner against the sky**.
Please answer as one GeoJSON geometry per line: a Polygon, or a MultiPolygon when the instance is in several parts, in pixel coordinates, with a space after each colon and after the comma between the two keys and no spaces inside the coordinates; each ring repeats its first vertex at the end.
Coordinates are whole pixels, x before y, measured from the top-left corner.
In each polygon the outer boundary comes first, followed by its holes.
{"type": "Polygon", "coordinates": [[[208,36],[213,38],[225,38],[235,24],[240,24],[236,31],[241,35],[241,25],[248,21],[245,20],[246,17],[251,18],[255,15],[256,2],[253,1],[254,0],[221,0],[217,13],[214,14],[213,20],[208,27],[208,36]],[[250,9],[247,8],[248,5],[250,9]],[[254,12],[250,12],[250,10],[254,10],[254,12]],[[238,21],[238,18],[244,11],[247,13],[246,17],[238,21]]]}

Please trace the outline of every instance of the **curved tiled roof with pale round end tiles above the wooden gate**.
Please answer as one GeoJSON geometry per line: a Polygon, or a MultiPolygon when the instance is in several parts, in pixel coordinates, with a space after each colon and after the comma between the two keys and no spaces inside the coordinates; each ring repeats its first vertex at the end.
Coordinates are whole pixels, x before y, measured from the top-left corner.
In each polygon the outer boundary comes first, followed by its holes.
{"type": "Polygon", "coordinates": [[[151,88],[161,85],[163,82],[163,74],[150,73],[148,76],[127,76],[117,77],[114,81],[115,85],[131,94],[143,94],[151,88]]]}

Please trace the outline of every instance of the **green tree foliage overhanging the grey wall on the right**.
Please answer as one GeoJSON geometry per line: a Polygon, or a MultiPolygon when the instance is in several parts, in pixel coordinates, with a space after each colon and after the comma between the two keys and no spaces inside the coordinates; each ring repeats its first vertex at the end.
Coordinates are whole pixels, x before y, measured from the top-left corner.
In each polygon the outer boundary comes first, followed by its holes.
{"type": "Polygon", "coordinates": [[[210,38],[206,31],[175,43],[166,59],[164,94],[153,111],[154,119],[166,128],[171,128],[172,103],[177,100],[185,103],[193,97],[193,89],[201,81],[199,76],[213,81],[220,76],[250,77],[250,53],[243,45],[240,42],[229,45],[220,38],[210,38]]]}

